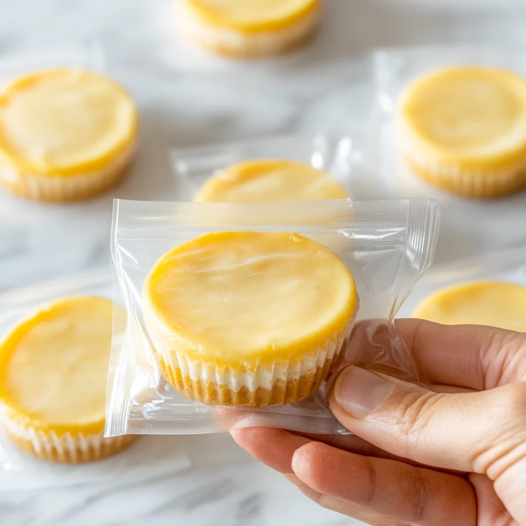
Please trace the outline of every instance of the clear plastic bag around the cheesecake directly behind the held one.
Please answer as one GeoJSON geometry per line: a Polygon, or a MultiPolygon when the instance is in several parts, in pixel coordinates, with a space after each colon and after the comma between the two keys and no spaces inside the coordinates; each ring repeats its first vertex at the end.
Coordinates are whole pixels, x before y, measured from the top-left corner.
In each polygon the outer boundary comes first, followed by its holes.
{"type": "Polygon", "coordinates": [[[310,164],[338,180],[352,199],[378,198],[377,185],[371,174],[366,176],[361,146],[351,136],[284,135],[170,151],[178,195],[184,200],[192,200],[210,176],[228,166],[255,159],[310,164]]]}

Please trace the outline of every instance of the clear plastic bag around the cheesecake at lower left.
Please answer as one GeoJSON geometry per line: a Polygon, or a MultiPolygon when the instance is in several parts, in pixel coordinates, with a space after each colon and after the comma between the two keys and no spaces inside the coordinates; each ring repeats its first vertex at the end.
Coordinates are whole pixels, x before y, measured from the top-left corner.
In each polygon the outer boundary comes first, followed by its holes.
{"type": "MultiPolygon", "coordinates": [[[[94,269],[0,295],[0,333],[11,329],[39,305],[64,296],[112,296],[109,269],[94,269]]],[[[1,408],[0,408],[1,411],[1,408]]],[[[0,492],[64,487],[126,476],[145,479],[188,468],[186,449],[167,437],[144,437],[128,449],[96,462],[60,464],[38,460],[18,449],[0,425],[0,492]],[[146,439],[146,440],[144,440],[146,439]],[[154,473],[154,474],[152,474],[154,473]]]]}

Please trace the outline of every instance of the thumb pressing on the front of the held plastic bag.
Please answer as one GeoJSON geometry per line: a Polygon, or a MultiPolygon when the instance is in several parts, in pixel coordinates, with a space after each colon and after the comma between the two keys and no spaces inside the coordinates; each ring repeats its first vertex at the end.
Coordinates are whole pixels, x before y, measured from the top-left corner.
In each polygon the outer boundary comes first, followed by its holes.
{"type": "Polygon", "coordinates": [[[330,408],[350,431],[399,457],[495,480],[526,446],[526,382],[435,393],[357,367],[340,371],[330,408]]]}

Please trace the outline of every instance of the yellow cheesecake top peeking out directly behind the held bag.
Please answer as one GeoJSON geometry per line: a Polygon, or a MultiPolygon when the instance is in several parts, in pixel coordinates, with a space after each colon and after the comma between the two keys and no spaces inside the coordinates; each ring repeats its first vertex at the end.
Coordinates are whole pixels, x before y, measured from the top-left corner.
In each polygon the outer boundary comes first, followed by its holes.
{"type": "Polygon", "coordinates": [[[343,199],[346,191],[325,171],[288,160],[257,160],[221,170],[199,189],[196,201],[267,203],[343,199]]]}

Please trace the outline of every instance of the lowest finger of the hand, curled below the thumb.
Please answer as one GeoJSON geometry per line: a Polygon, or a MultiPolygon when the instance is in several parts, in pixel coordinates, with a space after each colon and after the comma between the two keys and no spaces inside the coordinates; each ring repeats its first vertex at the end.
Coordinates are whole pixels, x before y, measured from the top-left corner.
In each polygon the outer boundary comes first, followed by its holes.
{"type": "Polygon", "coordinates": [[[348,502],[363,513],[422,526],[476,524],[473,488],[460,477],[362,457],[319,442],[299,448],[292,469],[315,492],[348,502]]]}

